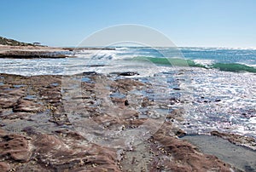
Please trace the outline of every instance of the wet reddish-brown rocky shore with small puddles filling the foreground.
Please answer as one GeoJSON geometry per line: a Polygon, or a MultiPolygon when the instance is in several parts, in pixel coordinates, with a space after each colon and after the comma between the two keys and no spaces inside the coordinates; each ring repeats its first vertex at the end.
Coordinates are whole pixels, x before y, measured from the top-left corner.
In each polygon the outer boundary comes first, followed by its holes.
{"type": "MultiPolygon", "coordinates": [[[[72,78],[82,78],[79,96],[63,88],[62,76],[0,74],[0,171],[240,171],[178,139],[185,135],[172,125],[172,119],[182,118],[178,109],[168,112],[158,129],[137,144],[90,140],[70,118],[70,112],[80,112],[74,118],[81,119],[84,129],[93,129],[97,126],[90,125],[96,124],[102,131],[118,135],[140,129],[147,120],[141,118],[142,113],[150,118],[157,115],[155,108],[165,109],[165,105],[134,94],[150,89],[150,84],[137,79],[95,72],[69,77],[74,82],[72,78]],[[99,81],[102,85],[97,85],[99,81]],[[106,103],[108,93],[110,102],[106,103]],[[65,104],[69,95],[75,106],[65,104]],[[91,123],[84,123],[83,116],[91,123]]],[[[218,132],[212,135],[234,138],[218,132]]],[[[236,137],[236,142],[239,139],[243,140],[236,137]]]]}

